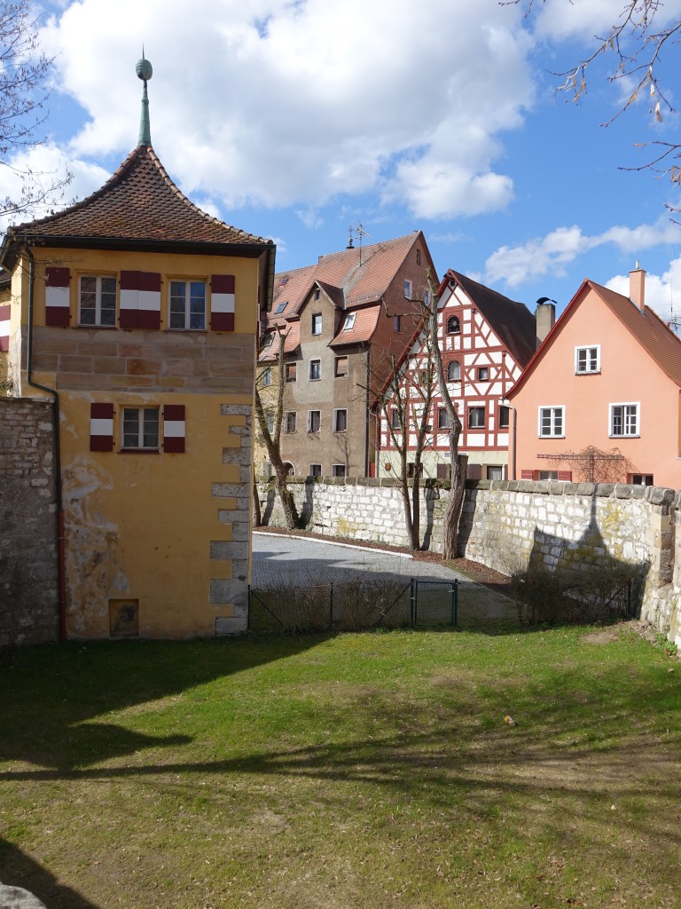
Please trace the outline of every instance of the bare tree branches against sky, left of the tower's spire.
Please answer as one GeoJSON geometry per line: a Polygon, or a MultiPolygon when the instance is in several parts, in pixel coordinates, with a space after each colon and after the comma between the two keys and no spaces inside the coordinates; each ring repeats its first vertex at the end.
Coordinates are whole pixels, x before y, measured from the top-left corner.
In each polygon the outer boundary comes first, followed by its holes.
{"type": "Polygon", "coordinates": [[[15,155],[44,145],[42,131],[54,59],[38,45],[38,24],[29,0],[0,0],[0,164],[15,175],[17,193],[0,199],[0,215],[30,211],[58,199],[71,175],[38,172],[15,155]]]}

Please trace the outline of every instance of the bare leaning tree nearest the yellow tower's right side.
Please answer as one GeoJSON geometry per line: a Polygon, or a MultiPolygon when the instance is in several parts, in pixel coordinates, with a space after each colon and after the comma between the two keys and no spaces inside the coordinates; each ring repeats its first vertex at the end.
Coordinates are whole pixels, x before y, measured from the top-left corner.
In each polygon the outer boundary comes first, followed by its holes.
{"type": "Polygon", "coordinates": [[[300,515],[289,489],[288,470],[281,458],[281,426],[284,415],[284,345],[287,334],[281,329],[281,326],[277,325],[273,333],[265,335],[265,338],[273,338],[271,345],[276,344],[277,346],[276,353],[259,367],[255,383],[255,415],[262,442],[274,470],[274,484],[281,501],[284,520],[288,529],[293,530],[300,522],[300,515]]]}

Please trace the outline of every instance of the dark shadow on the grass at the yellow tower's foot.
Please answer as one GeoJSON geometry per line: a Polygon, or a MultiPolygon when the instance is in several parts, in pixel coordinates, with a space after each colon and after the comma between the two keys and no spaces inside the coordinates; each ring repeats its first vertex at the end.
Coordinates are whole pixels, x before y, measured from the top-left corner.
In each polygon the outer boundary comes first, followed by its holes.
{"type": "Polygon", "coordinates": [[[323,638],[44,644],[0,654],[0,762],[25,761],[59,773],[191,742],[146,735],[94,717],[180,694],[195,685],[285,659],[323,638]]]}

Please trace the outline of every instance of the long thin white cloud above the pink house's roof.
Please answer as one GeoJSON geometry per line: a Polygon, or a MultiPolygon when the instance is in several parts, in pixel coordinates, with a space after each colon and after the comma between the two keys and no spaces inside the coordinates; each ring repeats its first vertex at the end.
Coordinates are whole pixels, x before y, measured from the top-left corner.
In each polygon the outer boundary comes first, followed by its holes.
{"type": "MultiPolygon", "coordinates": [[[[618,251],[640,255],[646,249],[681,242],[681,226],[663,215],[653,225],[610,227],[602,234],[587,236],[580,227],[558,227],[544,237],[534,237],[518,246],[500,246],[485,263],[485,279],[518,287],[544,275],[562,277],[579,255],[598,246],[614,245],[618,251]]],[[[633,265],[633,263],[632,263],[633,265]]]]}

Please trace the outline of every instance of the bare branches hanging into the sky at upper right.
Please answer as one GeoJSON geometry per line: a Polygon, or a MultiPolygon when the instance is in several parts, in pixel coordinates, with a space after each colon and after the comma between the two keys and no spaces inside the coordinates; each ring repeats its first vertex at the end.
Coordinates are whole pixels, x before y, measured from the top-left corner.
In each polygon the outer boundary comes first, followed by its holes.
{"type": "MultiPolygon", "coordinates": [[[[541,0],[542,5],[546,0],[541,0]]],[[[565,0],[569,3],[569,0],[565,0]]],[[[529,16],[538,5],[538,0],[503,0],[502,5],[521,6],[529,16]]],[[[556,73],[563,84],[558,91],[565,92],[573,101],[587,92],[588,67],[598,57],[611,55],[613,66],[607,77],[612,83],[622,82],[627,87],[627,100],[617,113],[603,125],[609,125],[627,111],[642,96],[647,96],[650,113],[661,123],[666,114],[676,113],[673,99],[666,94],[660,82],[659,73],[665,55],[673,53],[681,38],[681,19],[667,20],[664,17],[663,0],[627,0],[617,22],[605,35],[597,35],[593,48],[568,70],[556,73]]],[[[646,164],[627,167],[625,170],[650,168],[657,173],[668,175],[673,183],[681,183],[681,143],[661,140],[645,143],[654,151],[646,164]]],[[[675,209],[676,210],[676,209],[675,209]]]]}

